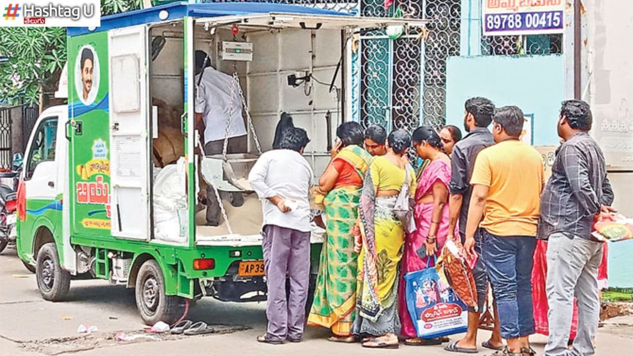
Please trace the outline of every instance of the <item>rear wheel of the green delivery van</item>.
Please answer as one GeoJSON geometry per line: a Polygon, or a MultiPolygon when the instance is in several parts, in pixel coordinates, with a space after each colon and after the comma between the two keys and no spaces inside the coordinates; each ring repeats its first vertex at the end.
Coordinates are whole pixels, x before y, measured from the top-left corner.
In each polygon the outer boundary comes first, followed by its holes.
{"type": "Polygon", "coordinates": [[[156,261],[147,260],[141,265],[134,293],[136,307],[145,324],[154,325],[159,321],[173,324],[182,317],[184,300],[165,294],[165,278],[156,261]]]}

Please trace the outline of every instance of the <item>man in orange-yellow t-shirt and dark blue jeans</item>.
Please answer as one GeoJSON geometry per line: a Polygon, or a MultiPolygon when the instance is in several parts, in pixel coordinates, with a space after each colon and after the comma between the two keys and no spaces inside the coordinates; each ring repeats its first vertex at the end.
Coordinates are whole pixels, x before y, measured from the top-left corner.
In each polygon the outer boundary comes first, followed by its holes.
{"type": "Polygon", "coordinates": [[[480,151],[475,161],[464,247],[473,253],[475,231],[481,227],[480,258],[492,284],[501,336],[508,341],[501,355],[520,356],[532,353],[530,275],[544,170],[541,155],[519,140],[523,112],[517,106],[499,108],[492,120],[496,144],[480,151]]]}

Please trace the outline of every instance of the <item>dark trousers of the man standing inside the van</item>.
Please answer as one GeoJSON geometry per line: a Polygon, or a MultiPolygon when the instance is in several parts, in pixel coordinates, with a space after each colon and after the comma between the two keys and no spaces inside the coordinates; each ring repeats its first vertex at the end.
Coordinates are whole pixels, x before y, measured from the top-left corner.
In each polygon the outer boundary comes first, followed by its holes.
{"type": "MultiPolygon", "coordinates": [[[[231,137],[229,144],[227,145],[227,153],[244,153],[246,152],[246,136],[231,137]]],[[[204,144],[205,155],[219,155],[224,148],[224,140],[209,141],[204,144]]],[[[234,207],[240,207],[244,204],[244,196],[242,193],[235,192],[232,195],[232,201],[234,207]]],[[[206,222],[210,225],[220,225],[220,217],[222,210],[220,210],[220,202],[218,197],[215,196],[213,186],[209,185],[206,188],[206,222]]]]}

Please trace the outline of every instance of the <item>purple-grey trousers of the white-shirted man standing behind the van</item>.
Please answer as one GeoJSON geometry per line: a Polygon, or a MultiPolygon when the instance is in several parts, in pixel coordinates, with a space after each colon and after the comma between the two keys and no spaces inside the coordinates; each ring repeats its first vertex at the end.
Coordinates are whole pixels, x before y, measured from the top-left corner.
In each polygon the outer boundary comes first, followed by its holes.
{"type": "Polygon", "coordinates": [[[261,247],[268,286],[266,339],[300,340],[310,284],[310,232],[266,225],[262,234],[261,247]],[[285,290],[286,271],[290,279],[288,296],[285,290]]]}

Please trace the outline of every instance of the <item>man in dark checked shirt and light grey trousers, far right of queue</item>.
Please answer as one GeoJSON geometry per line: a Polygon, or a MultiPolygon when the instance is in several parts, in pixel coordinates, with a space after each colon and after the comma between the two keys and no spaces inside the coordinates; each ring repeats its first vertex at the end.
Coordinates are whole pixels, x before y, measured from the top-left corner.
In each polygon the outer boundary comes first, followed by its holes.
{"type": "Polygon", "coordinates": [[[541,196],[539,238],[548,239],[549,340],[546,356],[593,355],[600,299],[598,265],[603,243],[593,241],[594,217],[610,213],[613,191],[606,178],[605,157],[587,132],[592,117],[584,101],[563,102],[552,175],[541,196]],[[578,300],[578,333],[572,350],[567,342],[573,297],[578,300]]]}

